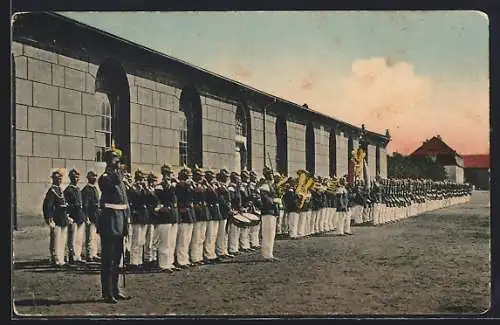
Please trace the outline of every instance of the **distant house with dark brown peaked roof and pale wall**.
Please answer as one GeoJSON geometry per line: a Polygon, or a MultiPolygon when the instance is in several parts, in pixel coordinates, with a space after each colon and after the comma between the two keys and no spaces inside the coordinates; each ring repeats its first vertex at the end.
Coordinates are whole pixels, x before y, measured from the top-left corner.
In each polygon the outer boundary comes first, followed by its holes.
{"type": "Polygon", "coordinates": [[[444,167],[449,180],[455,183],[464,182],[463,157],[448,146],[439,135],[425,140],[410,156],[430,157],[444,167]]]}

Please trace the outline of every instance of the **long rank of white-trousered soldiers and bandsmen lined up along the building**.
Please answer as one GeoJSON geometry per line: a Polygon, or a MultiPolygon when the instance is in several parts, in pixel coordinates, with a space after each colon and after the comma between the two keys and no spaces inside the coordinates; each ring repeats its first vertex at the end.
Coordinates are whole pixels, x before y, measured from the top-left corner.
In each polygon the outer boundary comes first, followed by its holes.
{"type": "MultiPolygon", "coordinates": [[[[108,207],[99,202],[103,202],[101,192],[110,186],[105,181],[111,171],[100,177],[99,187],[96,173],[88,172],[88,184],[81,191],[76,169],[68,174],[68,187],[61,189],[64,172],[52,173],[43,204],[51,230],[51,262],[64,266],[99,261],[98,237],[102,242],[107,231],[99,228],[106,227],[102,219],[108,207]]],[[[155,268],[168,273],[255,251],[266,261],[278,261],[273,252],[277,235],[290,239],[352,235],[351,225],[392,223],[465,203],[472,193],[469,184],[446,181],[377,176],[369,183],[359,179],[349,183],[346,176],[315,177],[305,170],[286,177],[268,167],[260,179],[253,170],[230,173],[198,166],[180,167],[175,178],[172,166],[163,165],[160,181],[153,172],[136,170],[133,180],[129,173],[113,173],[122,179],[126,198],[110,201],[109,206],[122,209],[126,202],[129,211],[120,264],[130,270],[155,268]]],[[[111,267],[107,270],[114,272],[111,267]]],[[[103,295],[117,295],[109,290],[103,295]]]]}

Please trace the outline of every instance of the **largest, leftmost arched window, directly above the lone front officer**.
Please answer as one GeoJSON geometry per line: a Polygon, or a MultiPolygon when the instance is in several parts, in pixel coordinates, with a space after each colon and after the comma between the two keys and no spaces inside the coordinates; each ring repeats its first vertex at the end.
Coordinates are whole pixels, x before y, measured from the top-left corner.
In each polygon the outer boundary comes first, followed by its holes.
{"type": "Polygon", "coordinates": [[[130,89],[125,70],[114,59],[106,59],[97,70],[96,99],[100,105],[96,124],[96,160],[111,147],[112,141],[123,152],[130,168],[130,89]]]}

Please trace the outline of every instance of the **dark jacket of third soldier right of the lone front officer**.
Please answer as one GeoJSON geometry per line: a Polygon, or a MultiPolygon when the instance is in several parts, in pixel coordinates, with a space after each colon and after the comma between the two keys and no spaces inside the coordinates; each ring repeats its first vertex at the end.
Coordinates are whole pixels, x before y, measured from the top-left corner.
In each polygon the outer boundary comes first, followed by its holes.
{"type": "Polygon", "coordinates": [[[177,209],[177,196],[175,195],[175,183],[167,184],[162,181],[155,188],[155,194],[162,208],[155,214],[155,223],[174,224],[179,222],[179,210],[177,209]]]}

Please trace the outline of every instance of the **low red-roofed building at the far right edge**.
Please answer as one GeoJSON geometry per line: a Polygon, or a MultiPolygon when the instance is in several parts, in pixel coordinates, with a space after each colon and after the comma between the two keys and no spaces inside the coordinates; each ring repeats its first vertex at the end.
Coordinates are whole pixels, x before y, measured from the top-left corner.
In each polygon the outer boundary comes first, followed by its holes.
{"type": "Polygon", "coordinates": [[[465,181],[479,190],[490,189],[490,155],[464,155],[465,181]]]}

